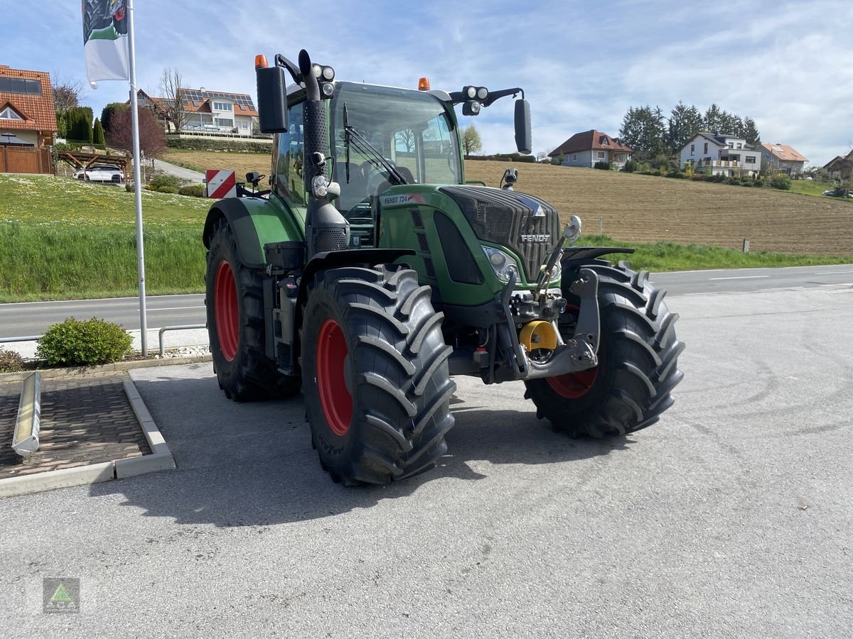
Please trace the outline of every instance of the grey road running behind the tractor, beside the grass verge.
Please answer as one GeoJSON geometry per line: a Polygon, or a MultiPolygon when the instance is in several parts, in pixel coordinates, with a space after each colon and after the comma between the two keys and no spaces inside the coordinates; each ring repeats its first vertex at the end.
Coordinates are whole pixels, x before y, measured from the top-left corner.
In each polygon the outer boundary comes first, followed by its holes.
{"type": "MultiPolygon", "coordinates": [[[[655,273],[652,279],[669,295],[812,288],[853,283],[853,264],[655,273]]],[[[203,295],[149,296],[148,328],[204,324],[204,300],[203,295]]],[[[0,337],[40,335],[49,325],[69,316],[98,317],[126,329],[138,329],[139,298],[0,304],[0,337]]]]}

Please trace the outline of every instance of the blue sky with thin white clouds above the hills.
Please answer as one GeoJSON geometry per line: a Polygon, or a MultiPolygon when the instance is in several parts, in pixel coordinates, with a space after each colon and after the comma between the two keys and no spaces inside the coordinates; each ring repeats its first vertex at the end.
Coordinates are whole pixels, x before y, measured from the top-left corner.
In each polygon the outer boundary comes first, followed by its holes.
{"type": "MultiPolygon", "coordinates": [[[[84,84],[100,115],[128,84],[86,83],[78,0],[14,3],[0,26],[0,64],[84,84]]],[[[334,66],[337,78],[433,89],[520,86],[531,102],[533,153],[590,129],[618,135],[629,107],[711,103],[753,118],[764,142],[821,166],[853,147],[853,2],[585,2],[528,0],[136,0],[136,78],[160,76],[255,97],[254,56],[334,66]]],[[[485,153],[514,152],[508,98],[476,124],[485,153]]]]}

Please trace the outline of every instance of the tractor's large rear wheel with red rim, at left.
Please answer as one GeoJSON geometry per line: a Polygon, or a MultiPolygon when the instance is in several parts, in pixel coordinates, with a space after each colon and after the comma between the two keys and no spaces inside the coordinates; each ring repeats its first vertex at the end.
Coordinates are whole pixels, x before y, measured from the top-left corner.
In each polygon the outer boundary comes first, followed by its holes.
{"type": "Polygon", "coordinates": [[[299,377],[282,375],[266,356],[263,279],[240,262],[237,241],[222,218],[207,252],[207,332],[219,388],[235,401],[299,393],[299,377]]]}

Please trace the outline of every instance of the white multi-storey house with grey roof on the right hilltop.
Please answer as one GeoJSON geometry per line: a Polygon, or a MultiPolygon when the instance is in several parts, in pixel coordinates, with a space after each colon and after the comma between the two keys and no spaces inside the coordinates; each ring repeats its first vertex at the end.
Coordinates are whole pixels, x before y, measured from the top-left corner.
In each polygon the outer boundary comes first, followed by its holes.
{"type": "Polygon", "coordinates": [[[710,170],[713,175],[731,176],[741,171],[757,173],[761,168],[761,153],[746,139],[737,135],[699,131],[680,153],[680,166],[693,164],[699,173],[710,170]]]}

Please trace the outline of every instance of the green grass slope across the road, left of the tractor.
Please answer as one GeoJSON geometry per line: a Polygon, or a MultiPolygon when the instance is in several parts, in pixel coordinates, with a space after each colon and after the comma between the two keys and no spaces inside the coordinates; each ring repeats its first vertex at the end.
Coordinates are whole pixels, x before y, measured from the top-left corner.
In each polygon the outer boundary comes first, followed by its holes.
{"type": "MultiPolygon", "coordinates": [[[[203,286],[210,201],[142,192],[146,289],[203,286]]],[[[0,174],[0,302],[136,295],[133,193],[111,184],[0,174]]]]}

